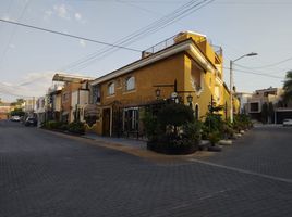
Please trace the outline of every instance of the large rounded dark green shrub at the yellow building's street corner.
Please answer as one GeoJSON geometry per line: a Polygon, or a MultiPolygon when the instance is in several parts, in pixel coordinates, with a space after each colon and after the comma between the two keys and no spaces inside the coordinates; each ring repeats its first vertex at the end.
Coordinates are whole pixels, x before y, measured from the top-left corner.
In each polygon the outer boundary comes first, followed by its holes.
{"type": "Polygon", "coordinates": [[[188,154],[197,150],[200,123],[193,110],[184,104],[168,104],[157,115],[146,113],[143,118],[148,149],[166,154],[188,154]]]}

